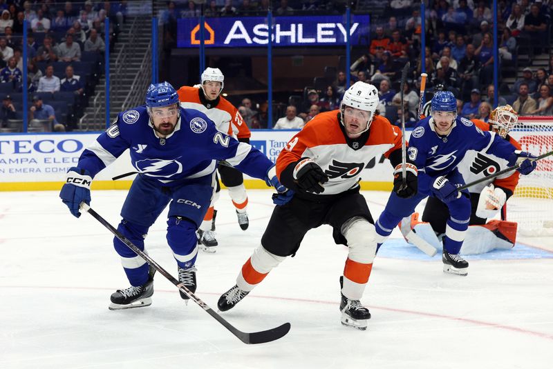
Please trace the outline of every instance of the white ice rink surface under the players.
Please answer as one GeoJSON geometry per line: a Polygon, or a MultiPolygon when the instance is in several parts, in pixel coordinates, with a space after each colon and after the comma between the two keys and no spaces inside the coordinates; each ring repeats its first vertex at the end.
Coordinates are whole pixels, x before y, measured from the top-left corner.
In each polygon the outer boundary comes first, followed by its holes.
{"type": "MultiPolygon", "coordinates": [[[[223,190],[218,250],[200,252],[196,294],[216,310],[222,292],[263,234],[270,190],[250,190],[242,231],[223,190]]],[[[91,206],[117,226],[126,191],[93,191],[91,206]]],[[[373,217],[387,193],[364,192],[373,217]]],[[[165,216],[147,250],[176,276],[165,216]]],[[[249,346],[162,275],[147,308],[108,310],[129,286],[112,237],[90,215],[71,216],[57,192],[0,192],[0,368],[552,368],[553,239],[518,239],[513,250],[467,256],[469,275],[442,272],[395,230],[384,244],[362,302],[368,329],[341,326],[339,281],[347,249],[331,228],[308,232],[241,303],[221,313],[258,331],[289,321],[272,343],[249,346]]]]}

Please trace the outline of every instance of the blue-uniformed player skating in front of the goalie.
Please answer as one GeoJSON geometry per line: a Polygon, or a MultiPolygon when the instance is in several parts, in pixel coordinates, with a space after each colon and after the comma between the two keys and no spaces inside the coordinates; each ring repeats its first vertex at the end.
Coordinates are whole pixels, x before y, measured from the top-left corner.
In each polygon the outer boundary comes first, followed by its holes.
{"type": "Polygon", "coordinates": [[[518,168],[521,174],[532,172],[536,161],[529,160],[534,158],[532,154],[517,151],[494,132],[484,132],[468,119],[457,117],[456,110],[456,98],[451,92],[436,92],[431,102],[431,117],[420,120],[409,139],[407,171],[418,174],[418,193],[409,199],[401,199],[392,192],[375,228],[379,237],[377,242],[381,244],[403,217],[411,215],[422,199],[437,197],[449,208],[443,238],[444,272],[467,275],[469,263],[458,255],[471,216],[468,190],[457,190],[465,184],[457,170],[465,152],[493,153],[507,159],[509,166],[521,160],[518,168]]]}

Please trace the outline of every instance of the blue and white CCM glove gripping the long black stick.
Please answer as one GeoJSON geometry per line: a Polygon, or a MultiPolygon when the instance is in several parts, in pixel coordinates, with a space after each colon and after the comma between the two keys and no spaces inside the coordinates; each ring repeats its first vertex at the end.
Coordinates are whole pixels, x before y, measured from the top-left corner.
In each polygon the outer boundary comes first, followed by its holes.
{"type": "Polygon", "coordinates": [[[81,216],[79,205],[83,201],[88,205],[91,204],[92,177],[88,170],[73,167],[69,168],[65,182],[59,197],[68,206],[71,214],[78,218],[81,216]]]}

